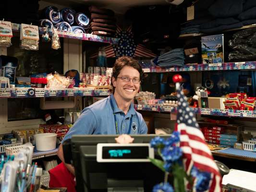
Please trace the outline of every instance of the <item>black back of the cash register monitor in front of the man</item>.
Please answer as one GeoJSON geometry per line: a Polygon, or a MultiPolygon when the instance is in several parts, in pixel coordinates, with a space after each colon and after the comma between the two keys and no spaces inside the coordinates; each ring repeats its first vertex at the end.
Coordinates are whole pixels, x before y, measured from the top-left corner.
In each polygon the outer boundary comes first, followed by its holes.
{"type": "MultiPolygon", "coordinates": [[[[145,145],[159,135],[131,136],[134,138],[134,144],[145,145]]],[[[75,168],[77,192],[121,192],[134,189],[137,192],[149,192],[154,185],[164,181],[164,172],[150,162],[97,162],[97,144],[116,143],[116,137],[117,135],[73,135],[71,163],[75,168]]],[[[129,150],[128,156],[131,151],[133,150],[129,150]]],[[[127,147],[124,152],[127,152],[127,147]]],[[[140,154],[139,158],[146,156],[146,153],[143,154],[140,154]]],[[[127,153],[124,153],[124,156],[126,155],[127,153]]]]}

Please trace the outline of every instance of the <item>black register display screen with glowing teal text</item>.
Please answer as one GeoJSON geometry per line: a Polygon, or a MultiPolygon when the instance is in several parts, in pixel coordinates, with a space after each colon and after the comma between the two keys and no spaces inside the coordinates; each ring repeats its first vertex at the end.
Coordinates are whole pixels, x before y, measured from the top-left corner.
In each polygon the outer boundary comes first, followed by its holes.
{"type": "Polygon", "coordinates": [[[103,146],[102,159],[147,159],[148,146],[103,146]]]}

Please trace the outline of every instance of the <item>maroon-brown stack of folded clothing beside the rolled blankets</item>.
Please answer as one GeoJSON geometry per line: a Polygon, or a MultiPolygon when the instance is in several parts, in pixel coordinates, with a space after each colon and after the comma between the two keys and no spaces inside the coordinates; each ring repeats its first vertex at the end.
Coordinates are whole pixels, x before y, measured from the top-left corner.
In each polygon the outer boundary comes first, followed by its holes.
{"type": "Polygon", "coordinates": [[[115,13],[109,9],[89,7],[91,13],[90,30],[94,35],[114,36],[116,33],[115,13]]]}

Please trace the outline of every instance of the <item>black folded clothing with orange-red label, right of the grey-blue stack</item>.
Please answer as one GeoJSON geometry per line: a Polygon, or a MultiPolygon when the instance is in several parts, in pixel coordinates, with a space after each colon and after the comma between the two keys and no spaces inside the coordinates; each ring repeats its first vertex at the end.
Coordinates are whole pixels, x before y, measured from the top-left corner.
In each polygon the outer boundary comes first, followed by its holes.
{"type": "Polygon", "coordinates": [[[202,63],[201,62],[201,41],[189,39],[184,45],[185,64],[202,63]]]}

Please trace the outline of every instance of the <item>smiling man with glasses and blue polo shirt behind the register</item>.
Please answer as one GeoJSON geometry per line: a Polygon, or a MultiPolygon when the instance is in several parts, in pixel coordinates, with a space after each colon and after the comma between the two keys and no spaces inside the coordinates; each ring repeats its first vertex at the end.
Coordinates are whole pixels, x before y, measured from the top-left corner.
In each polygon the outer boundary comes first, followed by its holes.
{"type": "MultiPolygon", "coordinates": [[[[112,95],[84,108],[63,141],[73,134],[146,134],[146,123],[133,104],[142,76],[142,68],[136,60],[129,57],[116,60],[111,79],[112,95]]],[[[58,156],[64,162],[62,144],[58,156]]],[[[71,165],[66,164],[66,167],[74,174],[71,165]]]]}

